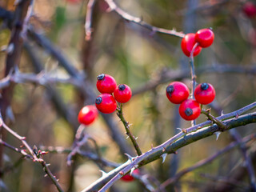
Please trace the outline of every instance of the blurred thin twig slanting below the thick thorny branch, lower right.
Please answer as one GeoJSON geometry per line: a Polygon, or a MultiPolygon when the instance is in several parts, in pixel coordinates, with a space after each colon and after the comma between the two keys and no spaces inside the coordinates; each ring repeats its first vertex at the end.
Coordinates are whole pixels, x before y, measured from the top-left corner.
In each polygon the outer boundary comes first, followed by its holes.
{"type": "MultiPolygon", "coordinates": [[[[169,186],[172,183],[178,182],[180,178],[182,178],[183,175],[198,169],[201,166],[205,166],[206,164],[209,164],[210,162],[214,161],[214,159],[218,158],[220,155],[227,153],[228,151],[234,149],[234,147],[238,145],[244,145],[246,142],[250,142],[252,139],[256,138],[256,134],[250,134],[246,136],[245,138],[242,138],[239,142],[231,142],[228,146],[226,146],[224,149],[219,150],[217,153],[211,155],[209,158],[202,159],[201,161],[194,164],[194,166],[187,167],[183,170],[180,170],[178,174],[175,174],[174,177],[167,179],[165,182],[162,183],[162,185],[159,187],[159,190],[162,188],[165,188],[166,186],[169,186]]],[[[156,191],[159,191],[156,190],[156,191]]]]}

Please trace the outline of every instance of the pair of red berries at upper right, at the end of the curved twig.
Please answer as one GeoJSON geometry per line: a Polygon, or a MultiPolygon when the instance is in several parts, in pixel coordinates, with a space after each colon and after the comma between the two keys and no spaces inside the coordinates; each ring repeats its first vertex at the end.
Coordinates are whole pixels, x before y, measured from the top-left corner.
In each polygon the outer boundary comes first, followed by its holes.
{"type": "Polygon", "coordinates": [[[182,38],[182,51],[187,57],[190,57],[190,53],[196,43],[198,46],[194,49],[193,56],[200,54],[202,48],[210,46],[214,42],[214,32],[211,29],[198,30],[196,34],[186,34],[182,38]]]}

